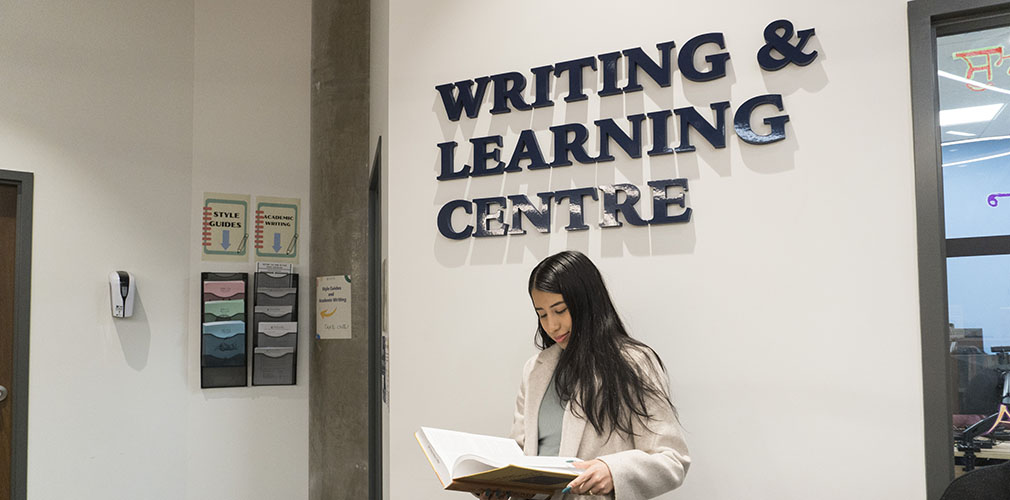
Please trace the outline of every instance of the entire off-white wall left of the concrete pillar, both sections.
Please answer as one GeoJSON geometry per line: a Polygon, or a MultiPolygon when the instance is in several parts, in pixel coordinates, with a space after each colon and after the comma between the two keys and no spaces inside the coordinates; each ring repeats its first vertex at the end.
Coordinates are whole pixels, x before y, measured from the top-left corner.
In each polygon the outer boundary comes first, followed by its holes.
{"type": "Polygon", "coordinates": [[[199,273],[223,267],[197,207],[307,210],[309,4],[0,5],[0,169],[35,174],[29,498],[307,497],[307,360],[298,387],[199,389],[199,273]],[[113,321],[120,269],[139,302],[113,321]]]}

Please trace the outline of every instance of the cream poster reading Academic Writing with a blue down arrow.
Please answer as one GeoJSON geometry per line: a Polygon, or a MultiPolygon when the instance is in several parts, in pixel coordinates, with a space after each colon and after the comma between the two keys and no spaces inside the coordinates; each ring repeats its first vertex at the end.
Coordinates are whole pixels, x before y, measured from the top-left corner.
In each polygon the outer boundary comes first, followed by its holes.
{"type": "Polygon", "coordinates": [[[298,264],[299,198],[256,198],[256,260],[298,264]]]}

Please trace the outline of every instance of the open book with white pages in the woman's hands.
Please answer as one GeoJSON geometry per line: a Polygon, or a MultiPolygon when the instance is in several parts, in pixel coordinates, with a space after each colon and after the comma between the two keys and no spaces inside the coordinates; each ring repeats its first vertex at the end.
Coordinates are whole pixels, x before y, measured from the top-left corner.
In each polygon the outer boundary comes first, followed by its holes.
{"type": "Polygon", "coordinates": [[[547,498],[580,471],[570,457],[526,457],[512,439],[421,427],[417,443],[446,490],[480,493],[487,489],[515,496],[547,498]]]}

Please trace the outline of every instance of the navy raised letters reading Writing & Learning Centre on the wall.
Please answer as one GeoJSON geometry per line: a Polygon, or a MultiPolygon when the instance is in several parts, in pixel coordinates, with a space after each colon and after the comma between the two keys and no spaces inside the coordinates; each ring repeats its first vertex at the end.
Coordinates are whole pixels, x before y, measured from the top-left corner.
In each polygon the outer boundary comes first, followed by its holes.
{"type": "MultiPolygon", "coordinates": [[[[796,31],[793,23],[785,19],[770,23],[765,28],[766,43],[756,53],[758,64],[765,71],[811,64],[817,58],[817,51],[807,51],[806,45],[813,35],[813,28],[796,31]]],[[[501,114],[553,106],[551,82],[562,78],[568,81],[565,102],[571,103],[589,99],[587,87],[595,90],[601,100],[641,92],[644,87],[640,82],[646,79],[660,87],[670,87],[675,69],[691,82],[710,82],[726,76],[730,55],[726,51],[723,33],[704,33],[689,39],[676,58],[673,56],[675,46],[674,41],[656,43],[659,54],[654,60],[641,47],[634,47],[532,68],[529,70],[530,80],[522,73],[508,72],[437,85],[435,91],[440,97],[445,118],[459,121],[463,114],[471,119],[477,118],[489,89],[491,98],[487,101],[492,107],[488,112],[501,114]],[[704,67],[699,68],[695,64],[695,55],[702,47],[708,52],[717,47],[717,51],[705,56],[704,67]],[[620,71],[621,65],[626,71],[620,71]],[[585,75],[587,71],[591,72],[588,77],[585,75]],[[598,77],[593,74],[595,72],[601,75],[598,77]],[[626,81],[619,81],[621,74],[626,75],[626,81]],[[531,85],[529,91],[526,90],[527,85],[531,85]]],[[[537,130],[525,129],[519,132],[515,143],[510,144],[505,144],[502,135],[472,137],[468,139],[471,151],[462,161],[457,157],[460,143],[448,140],[435,144],[440,166],[436,179],[451,181],[514,175],[524,170],[553,169],[575,164],[596,165],[616,160],[611,154],[612,147],[621,149],[631,159],[639,159],[643,153],[648,157],[687,154],[696,151],[694,140],[698,136],[714,148],[724,148],[727,116],[731,117],[733,132],[747,144],[771,144],[786,138],[789,115],[782,114],[785,105],[780,94],[754,96],[735,106],[729,101],[722,101],[708,107],[708,110],[699,110],[686,106],[633,114],[624,118],[626,126],[612,118],[595,120],[592,129],[585,123],[565,123],[548,127],[550,133],[545,139],[537,136],[537,130]],[[759,108],[763,108],[763,114],[772,108],[779,114],[764,118],[764,124],[755,129],[751,117],[759,108]],[[643,126],[645,122],[647,125],[643,126]],[[647,137],[643,130],[650,131],[647,137]],[[679,143],[674,139],[675,131],[679,133],[679,143]],[[599,143],[599,153],[595,155],[587,147],[587,144],[597,142],[590,140],[594,134],[599,143]],[[548,158],[544,152],[552,153],[552,157],[548,158]]],[[[541,135],[544,135],[542,131],[541,135]]],[[[525,234],[523,219],[538,232],[550,232],[551,205],[567,201],[569,217],[565,229],[584,230],[589,228],[585,223],[587,197],[600,202],[600,227],[621,227],[623,222],[636,226],[684,223],[691,220],[692,213],[687,206],[687,179],[667,179],[648,181],[647,187],[613,184],[536,193],[536,201],[531,201],[526,194],[451,200],[439,209],[436,225],[438,231],[450,239],[525,234]],[[646,194],[643,195],[642,191],[646,194]],[[646,200],[643,203],[651,200],[651,218],[642,218],[636,208],[642,199],[646,200]]]]}

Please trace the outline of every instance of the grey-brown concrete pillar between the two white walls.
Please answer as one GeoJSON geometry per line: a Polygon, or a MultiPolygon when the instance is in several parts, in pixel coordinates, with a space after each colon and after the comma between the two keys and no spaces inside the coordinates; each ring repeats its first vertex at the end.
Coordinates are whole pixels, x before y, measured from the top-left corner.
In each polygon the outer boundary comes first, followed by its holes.
{"type": "MultiPolygon", "coordinates": [[[[369,491],[369,1],[312,2],[311,247],[315,277],[350,274],[351,335],[312,340],[309,498],[369,491]]],[[[313,317],[315,314],[313,313],[313,317]]],[[[310,325],[314,334],[315,324],[310,325]]]]}

